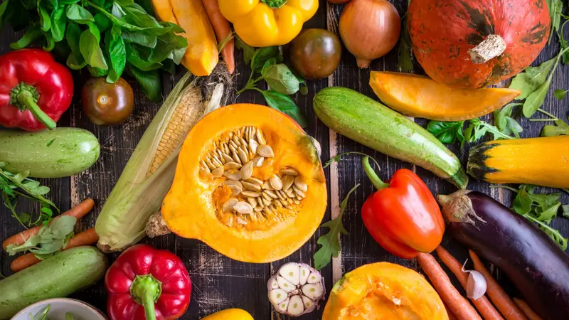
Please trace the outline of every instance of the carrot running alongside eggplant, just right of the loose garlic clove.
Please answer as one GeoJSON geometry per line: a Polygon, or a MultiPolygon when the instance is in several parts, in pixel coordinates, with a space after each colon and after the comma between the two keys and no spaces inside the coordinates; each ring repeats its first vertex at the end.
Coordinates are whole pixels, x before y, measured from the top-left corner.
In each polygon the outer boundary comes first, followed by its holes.
{"type": "Polygon", "coordinates": [[[468,250],[468,252],[470,253],[472,262],[474,262],[474,270],[482,273],[484,279],[486,279],[486,294],[488,294],[488,297],[490,297],[501,314],[504,315],[504,318],[507,320],[528,320],[526,314],[510,299],[509,295],[506,294],[504,289],[494,280],[490,272],[486,270],[486,267],[484,267],[478,255],[472,250],[468,250]]]}

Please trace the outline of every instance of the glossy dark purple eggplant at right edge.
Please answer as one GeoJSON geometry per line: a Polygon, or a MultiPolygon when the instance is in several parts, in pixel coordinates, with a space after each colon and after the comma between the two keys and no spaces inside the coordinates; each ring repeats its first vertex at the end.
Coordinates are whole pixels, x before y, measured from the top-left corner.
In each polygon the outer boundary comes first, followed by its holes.
{"type": "Polygon", "coordinates": [[[447,230],[503,272],[543,319],[569,319],[569,255],[541,229],[484,193],[438,196],[447,230]]]}

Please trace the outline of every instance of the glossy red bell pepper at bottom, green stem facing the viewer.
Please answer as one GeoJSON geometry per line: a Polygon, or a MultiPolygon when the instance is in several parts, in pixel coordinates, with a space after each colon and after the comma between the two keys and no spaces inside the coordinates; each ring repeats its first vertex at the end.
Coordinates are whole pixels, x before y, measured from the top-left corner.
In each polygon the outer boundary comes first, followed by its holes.
{"type": "Polygon", "coordinates": [[[179,257],[149,245],[122,252],[107,270],[111,320],[178,319],[190,304],[191,281],[179,257]]]}

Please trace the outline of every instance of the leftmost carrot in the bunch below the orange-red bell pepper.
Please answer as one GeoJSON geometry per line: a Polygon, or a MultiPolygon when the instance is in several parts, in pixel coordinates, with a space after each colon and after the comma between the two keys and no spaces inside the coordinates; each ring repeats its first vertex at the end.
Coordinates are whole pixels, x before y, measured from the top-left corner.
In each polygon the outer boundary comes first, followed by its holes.
{"type": "Polygon", "coordinates": [[[437,260],[428,253],[419,253],[417,261],[422,271],[431,280],[432,286],[439,293],[442,302],[445,302],[454,316],[459,320],[482,320],[476,310],[464,299],[457,288],[452,286],[450,279],[440,267],[437,260]]]}

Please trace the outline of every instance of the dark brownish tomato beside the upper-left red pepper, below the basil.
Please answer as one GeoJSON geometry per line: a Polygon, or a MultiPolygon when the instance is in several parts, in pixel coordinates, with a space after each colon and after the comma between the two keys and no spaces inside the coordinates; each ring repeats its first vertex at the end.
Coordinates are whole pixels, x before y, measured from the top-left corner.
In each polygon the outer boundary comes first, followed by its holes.
{"type": "Polygon", "coordinates": [[[83,112],[100,126],[122,124],[134,108],[134,92],[129,82],[119,78],[109,83],[105,77],[90,78],[81,92],[83,112]]]}

